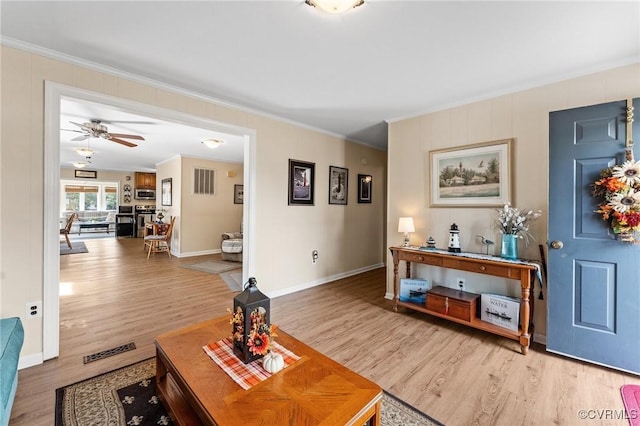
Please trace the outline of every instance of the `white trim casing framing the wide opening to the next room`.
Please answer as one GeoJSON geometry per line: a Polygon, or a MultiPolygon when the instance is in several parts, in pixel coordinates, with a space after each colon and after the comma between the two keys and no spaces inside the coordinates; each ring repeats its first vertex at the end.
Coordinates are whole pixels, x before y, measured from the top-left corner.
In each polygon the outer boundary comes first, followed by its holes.
{"type": "Polygon", "coordinates": [[[166,121],[192,124],[196,127],[212,128],[220,132],[240,136],[243,141],[244,162],[244,204],[243,204],[243,229],[245,241],[243,250],[243,280],[254,270],[254,244],[255,235],[255,131],[248,128],[216,122],[176,111],[142,104],[122,98],[116,98],[96,92],[78,89],[59,83],[46,82],[45,84],[45,120],[44,120],[44,289],[43,289],[43,360],[55,358],[60,346],[60,311],[59,311],[59,260],[58,237],[59,229],[59,193],[60,193],[60,103],[65,97],[98,104],[111,105],[123,110],[132,111],[140,115],[157,117],[166,121]]]}

